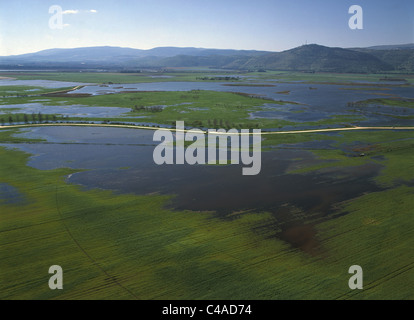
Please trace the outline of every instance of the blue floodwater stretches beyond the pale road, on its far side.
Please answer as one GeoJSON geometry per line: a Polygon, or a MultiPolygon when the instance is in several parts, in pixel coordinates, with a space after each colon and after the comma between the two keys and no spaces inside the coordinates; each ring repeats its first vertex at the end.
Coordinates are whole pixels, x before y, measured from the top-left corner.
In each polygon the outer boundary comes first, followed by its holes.
{"type": "MultiPolygon", "coordinates": [[[[358,125],[410,125],[412,123],[413,109],[403,107],[389,107],[377,105],[367,106],[364,108],[350,106],[352,103],[364,101],[372,98],[401,98],[412,99],[414,92],[411,87],[393,84],[393,83],[361,83],[365,85],[359,87],[357,83],[353,86],[349,84],[306,84],[301,82],[274,82],[267,81],[266,84],[256,81],[246,83],[228,83],[228,82],[154,82],[154,83],[129,83],[129,84],[105,84],[93,85],[86,84],[80,89],[73,90],[68,96],[77,95],[113,95],[122,93],[139,93],[139,92],[184,92],[192,90],[207,90],[215,92],[237,92],[245,96],[261,97],[275,101],[293,102],[291,105],[274,105],[269,101],[258,101],[257,106],[263,106],[264,110],[252,112],[250,119],[274,119],[286,120],[290,122],[306,123],[329,120],[336,116],[356,117],[359,119],[353,121],[358,125]],[[269,85],[269,83],[272,83],[269,85]]],[[[59,88],[79,85],[79,83],[57,82],[57,81],[37,81],[37,80],[1,80],[0,86],[5,85],[25,85],[25,86],[43,86],[47,88],[59,88]]],[[[1,100],[1,99],[0,99],[1,100]]],[[[2,104],[1,108],[19,108],[21,112],[42,112],[45,114],[62,114],[69,117],[90,117],[90,118],[109,118],[125,116],[130,109],[122,110],[114,106],[106,106],[106,109],[100,106],[80,106],[73,105],[70,108],[42,105],[36,99],[29,104],[2,104]]],[[[139,102],[139,101],[138,101],[139,102]]],[[[0,101],[1,103],[1,101],[0,101]]],[[[191,105],[191,101],[182,104],[191,105]]],[[[164,109],[170,105],[160,105],[164,109]]],[[[177,105],[172,105],[177,106],[177,105]]],[[[154,106],[153,106],[154,107],[154,106]]],[[[190,111],[200,111],[195,109],[190,111]]],[[[1,112],[1,109],[0,109],[1,112]]],[[[188,113],[183,109],[181,113],[188,113]]],[[[4,114],[4,112],[3,112],[4,114]]],[[[132,121],[133,122],[133,121],[132,121]]],[[[151,122],[151,121],[148,121],[151,122]]]]}

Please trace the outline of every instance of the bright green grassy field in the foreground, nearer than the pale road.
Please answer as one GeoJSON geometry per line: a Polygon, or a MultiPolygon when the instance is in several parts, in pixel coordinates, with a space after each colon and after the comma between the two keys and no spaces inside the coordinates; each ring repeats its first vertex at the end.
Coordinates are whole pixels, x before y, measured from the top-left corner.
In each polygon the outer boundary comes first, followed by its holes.
{"type": "MultiPolygon", "coordinates": [[[[2,131],[0,141],[10,140],[13,132],[2,131]]],[[[388,188],[340,204],[338,218],[307,223],[319,242],[316,256],[269,238],[273,229],[255,231],[277,226],[270,213],[220,219],[209,212],[165,209],[173,195],[86,191],[65,183],[74,170],[36,170],[26,166],[27,154],[0,147],[1,182],[24,199],[0,200],[0,298],[413,299],[409,134],[339,137],[341,144],[382,145],[385,139],[383,146],[401,141],[404,147],[381,151],[386,158],[378,183],[387,182],[388,188]],[[394,179],[399,176],[405,180],[394,179]],[[48,268],[55,264],[63,268],[62,291],[47,285],[48,268]],[[348,288],[348,268],[355,264],[364,270],[362,291],[348,288]]],[[[378,150],[375,155],[382,154],[378,150]]],[[[342,152],[325,151],[318,155],[327,160],[342,152]]],[[[377,161],[350,157],[340,165],[359,165],[361,159],[377,161]]]]}

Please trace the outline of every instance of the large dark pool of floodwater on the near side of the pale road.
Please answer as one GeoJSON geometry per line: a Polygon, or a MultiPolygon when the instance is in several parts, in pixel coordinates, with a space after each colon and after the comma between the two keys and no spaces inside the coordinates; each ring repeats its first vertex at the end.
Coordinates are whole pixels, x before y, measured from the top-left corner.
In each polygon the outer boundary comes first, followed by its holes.
{"type": "MultiPolygon", "coordinates": [[[[170,194],[174,195],[170,208],[212,211],[224,219],[240,211],[270,212],[274,221],[263,226],[266,234],[270,228],[270,234],[303,250],[314,249],[312,224],[333,214],[335,204],[379,190],[372,180],[381,169],[378,164],[288,174],[298,166],[318,163],[310,152],[300,149],[306,143],[299,149],[281,145],[262,153],[260,174],[243,176],[242,165],[158,166],[152,155],[157,143],[147,130],[47,127],[25,129],[22,134],[48,140],[7,145],[35,155],[28,165],[42,170],[89,169],[68,177],[70,183],[118,193],[170,194]],[[297,230],[302,232],[295,236],[297,230]],[[304,230],[308,236],[303,238],[304,230]]],[[[320,144],[330,147],[329,142],[320,144]]]]}

